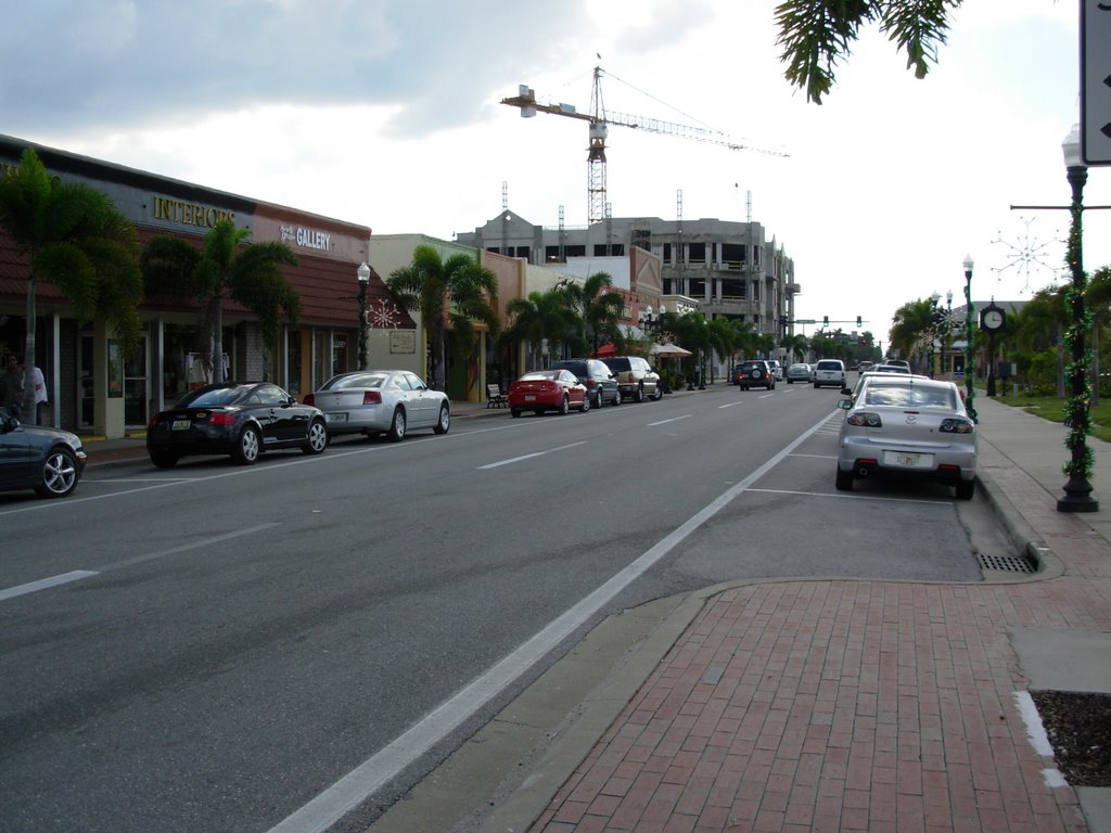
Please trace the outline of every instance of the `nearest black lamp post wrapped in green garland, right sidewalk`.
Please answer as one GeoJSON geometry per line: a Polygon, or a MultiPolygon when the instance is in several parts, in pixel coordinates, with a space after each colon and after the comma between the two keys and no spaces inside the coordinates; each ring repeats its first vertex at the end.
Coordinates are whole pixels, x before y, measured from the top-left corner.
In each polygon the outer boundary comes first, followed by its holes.
{"type": "Polygon", "coordinates": [[[1065,342],[1072,349],[1072,361],[1065,369],[1072,383],[1069,401],[1065,404],[1069,433],[1064,445],[1072,452],[1064,473],[1069,481],[1064,484],[1064,498],[1057,501],[1058,512],[1095,512],[1099,502],[1092,498],[1092,484],[1089,478],[1092,473],[1093,454],[1088,445],[1089,414],[1088,405],[1091,397],[1091,385],[1088,378],[1090,357],[1087,352],[1090,315],[1084,310],[1084,289],[1088,279],[1084,275],[1083,247],[1081,240],[1081,215],[1083,214],[1084,183],[1088,181],[1088,168],[1080,154],[1080,126],[1073,124],[1069,136],[1061,143],[1064,151],[1064,167],[1069,184],[1072,187],[1072,204],[1069,212],[1072,217],[1069,225],[1068,262],[1072,271],[1072,284],[1065,291],[1065,303],[1072,311],[1072,323],[1065,332],[1065,342]]]}

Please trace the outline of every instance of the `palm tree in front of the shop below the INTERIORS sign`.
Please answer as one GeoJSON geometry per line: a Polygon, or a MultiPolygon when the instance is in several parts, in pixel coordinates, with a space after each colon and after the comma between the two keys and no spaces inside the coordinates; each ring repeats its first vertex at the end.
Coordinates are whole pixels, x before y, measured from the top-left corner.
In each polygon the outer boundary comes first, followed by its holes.
{"type": "Polygon", "coordinates": [[[180,238],[160,235],[151,239],[142,253],[149,292],[200,301],[201,330],[207,335],[201,353],[213,382],[227,381],[222,361],[224,297],[258,315],[271,352],[278,349],[283,314],[296,323],[301,313],[300,295],[281,271],[282,263],[297,265],[293,250],[279,242],[241,245],[250,233],[250,229],[237,229],[234,222],[223,219],[204,235],[200,250],[180,238]]]}

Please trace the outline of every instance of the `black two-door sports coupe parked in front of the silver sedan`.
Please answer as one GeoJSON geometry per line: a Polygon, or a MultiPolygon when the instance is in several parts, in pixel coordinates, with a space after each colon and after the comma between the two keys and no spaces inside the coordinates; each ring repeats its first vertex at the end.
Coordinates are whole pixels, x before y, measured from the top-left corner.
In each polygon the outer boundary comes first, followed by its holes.
{"type": "Polygon", "coordinates": [[[300,404],[271,382],[223,382],[190,391],[156,415],[147,429],[147,453],[160,469],[187,454],[230,454],[250,465],[263,451],[328,448],[319,408],[300,404]]]}

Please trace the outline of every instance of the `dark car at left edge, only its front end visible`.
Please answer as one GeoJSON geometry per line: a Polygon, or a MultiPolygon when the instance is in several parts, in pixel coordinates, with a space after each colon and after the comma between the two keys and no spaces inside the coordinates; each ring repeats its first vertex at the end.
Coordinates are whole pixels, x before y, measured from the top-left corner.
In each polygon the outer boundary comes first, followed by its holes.
{"type": "Polygon", "coordinates": [[[0,489],[33,489],[64,498],[84,471],[81,438],[44,425],[23,425],[0,412],[0,489]]]}

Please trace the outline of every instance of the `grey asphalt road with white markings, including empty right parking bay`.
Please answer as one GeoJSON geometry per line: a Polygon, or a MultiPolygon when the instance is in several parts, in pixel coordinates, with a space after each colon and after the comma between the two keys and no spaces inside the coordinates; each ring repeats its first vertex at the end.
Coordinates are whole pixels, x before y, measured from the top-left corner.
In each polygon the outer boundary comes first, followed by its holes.
{"type": "Polygon", "coordinates": [[[718,385],[0,495],[0,831],[361,830],[611,613],[977,580],[949,490],[834,491],[837,399],[718,385]]]}

